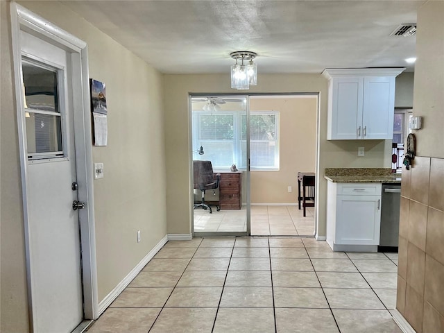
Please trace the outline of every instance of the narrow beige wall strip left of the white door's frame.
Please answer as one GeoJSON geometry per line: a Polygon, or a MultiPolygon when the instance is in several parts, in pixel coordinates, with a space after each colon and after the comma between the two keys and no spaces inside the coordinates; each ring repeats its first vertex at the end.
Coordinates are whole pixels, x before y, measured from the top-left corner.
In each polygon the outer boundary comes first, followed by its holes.
{"type": "Polygon", "coordinates": [[[17,116],[12,87],[8,3],[0,1],[0,8],[0,331],[22,333],[28,332],[22,184],[19,171],[17,116]]]}

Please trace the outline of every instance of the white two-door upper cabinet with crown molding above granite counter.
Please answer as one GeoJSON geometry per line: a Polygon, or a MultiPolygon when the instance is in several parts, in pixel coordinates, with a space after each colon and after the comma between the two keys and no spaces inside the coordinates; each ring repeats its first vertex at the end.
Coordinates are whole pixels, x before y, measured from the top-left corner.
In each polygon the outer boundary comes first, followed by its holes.
{"type": "Polygon", "coordinates": [[[325,69],[328,140],[392,139],[400,69],[325,69]]]}

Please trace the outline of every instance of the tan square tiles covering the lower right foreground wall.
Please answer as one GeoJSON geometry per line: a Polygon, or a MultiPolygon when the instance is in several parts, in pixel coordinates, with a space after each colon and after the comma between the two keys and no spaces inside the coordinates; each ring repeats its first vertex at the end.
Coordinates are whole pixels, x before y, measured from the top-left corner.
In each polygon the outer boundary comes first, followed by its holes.
{"type": "Polygon", "coordinates": [[[415,157],[401,189],[396,308],[416,332],[444,332],[444,159],[415,157]]]}

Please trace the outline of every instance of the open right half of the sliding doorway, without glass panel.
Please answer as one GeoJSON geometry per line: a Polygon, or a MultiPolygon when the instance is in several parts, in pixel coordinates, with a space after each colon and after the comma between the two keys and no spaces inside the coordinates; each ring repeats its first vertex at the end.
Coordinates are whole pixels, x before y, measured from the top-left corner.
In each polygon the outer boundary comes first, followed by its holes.
{"type": "Polygon", "coordinates": [[[250,96],[250,115],[273,112],[277,132],[275,142],[266,143],[275,162],[266,165],[262,151],[253,148],[264,135],[253,123],[250,128],[252,236],[314,236],[315,207],[307,207],[305,216],[299,208],[297,176],[315,173],[317,103],[317,95],[250,96]]]}

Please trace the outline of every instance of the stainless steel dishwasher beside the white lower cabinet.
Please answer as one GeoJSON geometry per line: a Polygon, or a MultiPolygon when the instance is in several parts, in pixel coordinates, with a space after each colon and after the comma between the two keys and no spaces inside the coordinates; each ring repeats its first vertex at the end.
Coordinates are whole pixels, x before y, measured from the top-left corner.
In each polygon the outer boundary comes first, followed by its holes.
{"type": "MultiPolygon", "coordinates": [[[[379,248],[395,250],[400,231],[401,185],[382,184],[381,231],[379,248]]],[[[381,249],[384,250],[384,249],[381,249]]]]}

